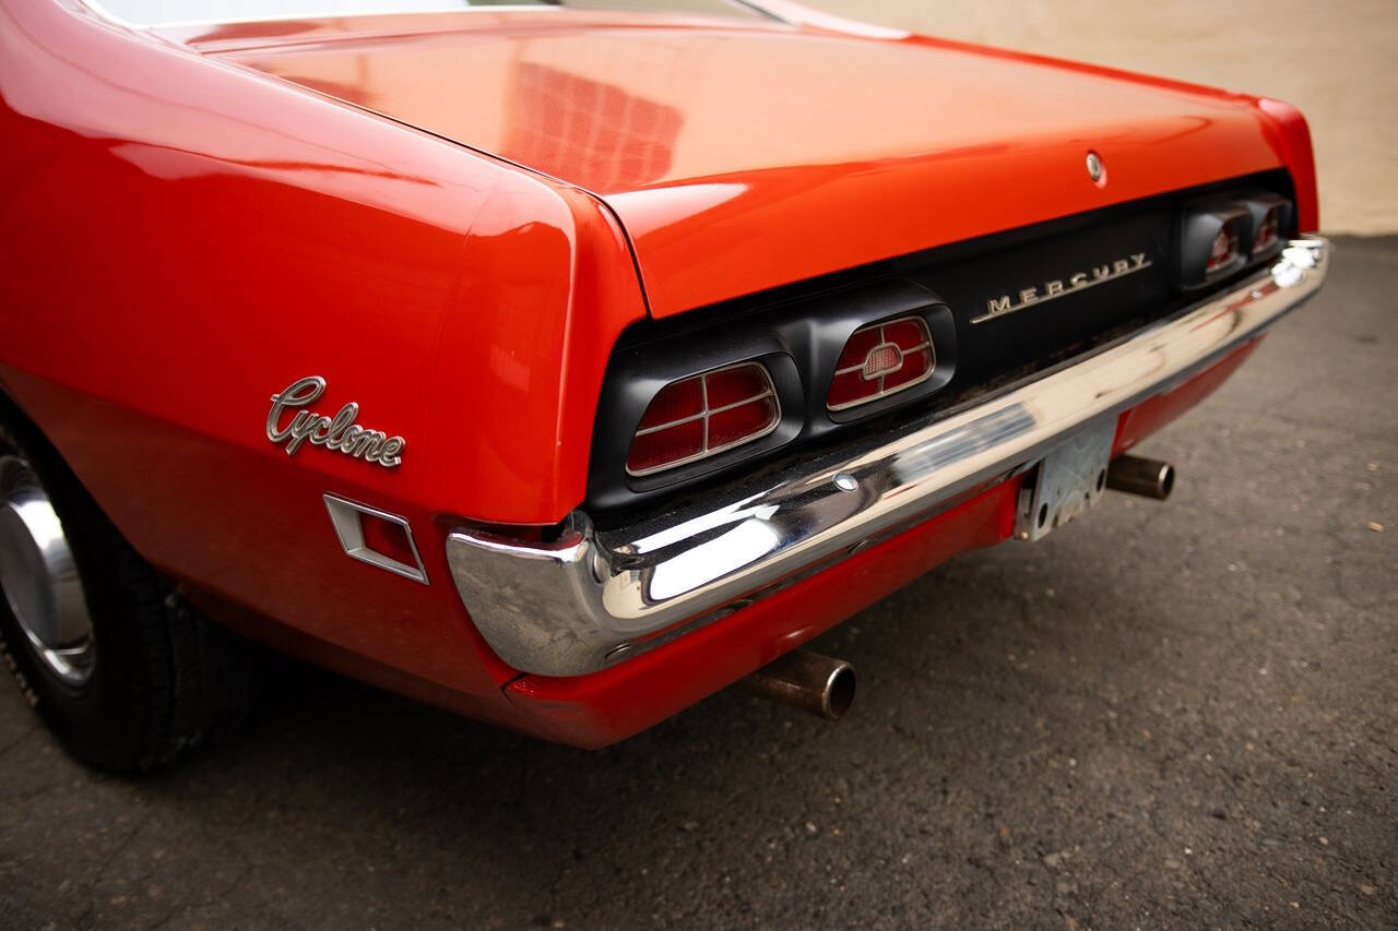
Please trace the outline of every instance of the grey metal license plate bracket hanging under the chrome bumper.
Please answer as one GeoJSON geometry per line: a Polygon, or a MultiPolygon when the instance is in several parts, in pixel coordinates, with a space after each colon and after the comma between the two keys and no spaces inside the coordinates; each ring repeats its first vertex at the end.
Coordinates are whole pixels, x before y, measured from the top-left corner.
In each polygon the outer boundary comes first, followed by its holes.
{"type": "Polygon", "coordinates": [[[1079,431],[1051,449],[1019,492],[1015,535],[1042,540],[1085,513],[1106,491],[1116,421],[1079,431]]]}

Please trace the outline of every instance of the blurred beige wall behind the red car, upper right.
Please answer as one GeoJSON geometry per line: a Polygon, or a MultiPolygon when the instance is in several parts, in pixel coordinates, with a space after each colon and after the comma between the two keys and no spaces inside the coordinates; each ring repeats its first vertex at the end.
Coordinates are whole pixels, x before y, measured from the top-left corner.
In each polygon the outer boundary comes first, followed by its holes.
{"type": "Polygon", "coordinates": [[[865,22],[1264,94],[1306,113],[1329,232],[1398,231],[1398,0],[805,0],[865,22]]]}

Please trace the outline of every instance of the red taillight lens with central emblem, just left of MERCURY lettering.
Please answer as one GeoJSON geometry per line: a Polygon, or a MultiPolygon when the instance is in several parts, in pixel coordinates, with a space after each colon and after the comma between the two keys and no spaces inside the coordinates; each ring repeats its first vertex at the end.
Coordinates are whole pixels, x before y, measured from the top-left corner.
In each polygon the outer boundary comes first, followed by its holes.
{"type": "Polygon", "coordinates": [[[921,317],[860,327],[840,351],[825,405],[843,411],[910,389],[931,377],[935,363],[932,335],[921,317]]]}

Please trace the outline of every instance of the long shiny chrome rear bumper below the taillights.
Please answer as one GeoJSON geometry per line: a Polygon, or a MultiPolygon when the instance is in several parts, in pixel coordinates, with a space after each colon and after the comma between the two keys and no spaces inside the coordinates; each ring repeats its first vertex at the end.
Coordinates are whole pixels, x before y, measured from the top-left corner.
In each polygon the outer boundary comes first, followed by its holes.
{"type": "Polygon", "coordinates": [[[685,512],[600,533],[575,512],[549,544],[457,530],[447,561],[502,660],[582,675],[719,616],[738,598],[847,555],[1030,466],[1058,442],[1167,391],[1310,298],[1329,243],[1186,313],[951,417],[812,457],[685,512]]]}

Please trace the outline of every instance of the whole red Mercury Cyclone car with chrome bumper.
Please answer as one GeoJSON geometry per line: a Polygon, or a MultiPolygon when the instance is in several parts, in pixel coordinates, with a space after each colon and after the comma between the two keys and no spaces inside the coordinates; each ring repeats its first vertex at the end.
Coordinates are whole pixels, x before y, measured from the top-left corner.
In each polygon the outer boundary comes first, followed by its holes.
{"type": "Polygon", "coordinates": [[[1127,450],[1325,278],[1278,101],[784,0],[354,6],[0,0],[0,630],[92,765],[233,716],[243,637],[579,746],[745,677],[837,716],[802,643],[1163,498],[1127,450]]]}

